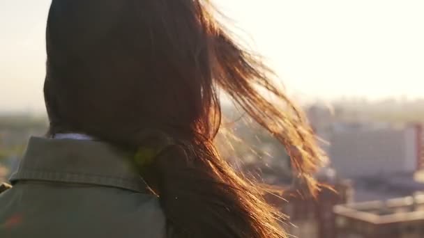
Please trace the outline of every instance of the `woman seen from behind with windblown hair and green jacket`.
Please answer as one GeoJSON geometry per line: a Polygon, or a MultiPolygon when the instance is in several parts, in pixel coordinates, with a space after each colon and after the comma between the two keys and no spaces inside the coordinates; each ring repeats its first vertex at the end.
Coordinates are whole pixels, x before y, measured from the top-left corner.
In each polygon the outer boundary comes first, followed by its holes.
{"type": "Polygon", "coordinates": [[[52,1],[49,138],[31,138],[0,197],[0,237],[287,237],[264,191],[215,150],[218,91],[285,145],[311,189],[321,154],[271,70],[211,9],[52,1]]]}

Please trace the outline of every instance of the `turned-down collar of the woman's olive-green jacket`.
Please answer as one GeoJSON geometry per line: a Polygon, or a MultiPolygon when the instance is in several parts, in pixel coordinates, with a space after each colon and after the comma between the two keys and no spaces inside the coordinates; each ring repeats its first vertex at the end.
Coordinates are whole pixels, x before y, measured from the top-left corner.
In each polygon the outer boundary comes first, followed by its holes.
{"type": "Polygon", "coordinates": [[[99,141],[31,137],[10,182],[42,180],[146,192],[132,165],[134,154],[99,141]]]}

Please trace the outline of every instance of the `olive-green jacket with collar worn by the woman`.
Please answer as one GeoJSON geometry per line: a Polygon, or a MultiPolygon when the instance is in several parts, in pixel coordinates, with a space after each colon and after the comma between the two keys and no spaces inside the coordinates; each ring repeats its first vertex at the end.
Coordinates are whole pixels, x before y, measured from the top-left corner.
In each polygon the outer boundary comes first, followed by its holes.
{"type": "Polygon", "coordinates": [[[0,237],[167,237],[131,158],[98,141],[31,138],[0,193],[0,237]]]}

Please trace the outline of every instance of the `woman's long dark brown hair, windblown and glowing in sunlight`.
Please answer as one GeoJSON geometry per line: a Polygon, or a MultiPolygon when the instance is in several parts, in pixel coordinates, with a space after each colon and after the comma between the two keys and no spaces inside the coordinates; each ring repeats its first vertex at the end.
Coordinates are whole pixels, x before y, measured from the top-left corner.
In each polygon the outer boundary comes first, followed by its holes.
{"type": "Polygon", "coordinates": [[[49,133],[86,133],[133,150],[175,237],[286,237],[263,190],[215,150],[218,90],[285,146],[312,190],[321,152],[272,71],[212,9],[206,0],[52,1],[49,133]]]}

